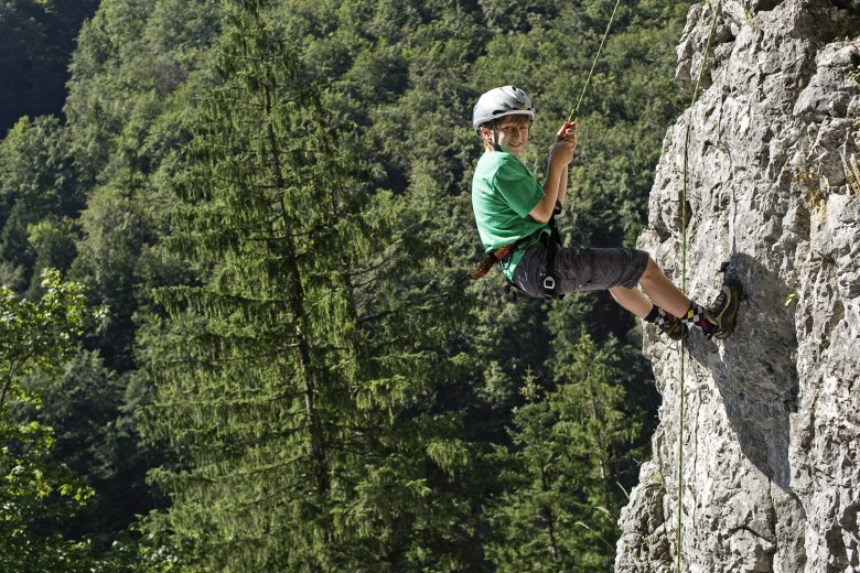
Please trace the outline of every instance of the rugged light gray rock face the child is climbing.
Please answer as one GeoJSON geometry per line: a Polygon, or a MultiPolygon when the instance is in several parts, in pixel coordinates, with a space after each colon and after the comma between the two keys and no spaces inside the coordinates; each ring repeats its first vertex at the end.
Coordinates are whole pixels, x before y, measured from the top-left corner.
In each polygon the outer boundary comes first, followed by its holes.
{"type": "Polygon", "coordinates": [[[678,47],[698,100],[670,128],[639,239],[709,303],[748,299],[724,342],[646,329],[654,457],[621,515],[617,572],[860,572],[860,7],[711,0],[678,47]],[[682,410],[681,410],[681,396],[682,410]],[[678,435],[682,434],[679,479],[678,435]],[[680,544],[678,499],[680,495],[680,544]]]}

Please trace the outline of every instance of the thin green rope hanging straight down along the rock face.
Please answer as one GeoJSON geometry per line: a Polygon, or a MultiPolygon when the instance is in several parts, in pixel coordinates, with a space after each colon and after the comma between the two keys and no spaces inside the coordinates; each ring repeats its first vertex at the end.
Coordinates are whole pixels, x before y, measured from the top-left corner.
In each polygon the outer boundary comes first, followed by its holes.
{"type": "MultiPolygon", "coordinates": [[[[705,76],[705,67],[708,63],[708,55],[711,50],[711,40],[713,39],[713,31],[717,28],[717,19],[720,15],[720,4],[718,3],[713,9],[713,19],[711,20],[711,29],[708,33],[708,42],[705,44],[705,54],[701,58],[701,67],[699,68],[699,77],[696,80],[696,88],[692,90],[692,99],[690,100],[690,115],[687,117],[687,132],[684,137],[684,184],[681,186],[681,292],[687,294],[687,155],[690,147],[690,117],[692,115],[692,106],[696,105],[696,100],[699,97],[699,88],[701,87],[701,79],[705,76]]],[[[681,572],[682,554],[681,551],[681,528],[684,527],[682,510],[684,510],[684,363],[685,363],[685,345],[681,343],[680,347],[680,380],[678,389],[678,523],[675,531],[675,550],[677,552],[675,559],[676,573],[681,572]]]]}

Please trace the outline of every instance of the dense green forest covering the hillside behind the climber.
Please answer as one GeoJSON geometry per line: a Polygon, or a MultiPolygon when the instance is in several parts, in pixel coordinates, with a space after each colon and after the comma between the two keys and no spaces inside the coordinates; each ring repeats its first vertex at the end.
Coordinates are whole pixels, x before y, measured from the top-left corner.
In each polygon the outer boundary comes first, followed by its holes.
{"type": "MultiPolygon", "coordinates": [[[[613,6],[0,1],[2,571],[612,571],[642,326],[469,270],[472,106],[540,176],[613,6]]],[[[620,4],[566,244],[645,227],[689,6],[620,4]]]]}

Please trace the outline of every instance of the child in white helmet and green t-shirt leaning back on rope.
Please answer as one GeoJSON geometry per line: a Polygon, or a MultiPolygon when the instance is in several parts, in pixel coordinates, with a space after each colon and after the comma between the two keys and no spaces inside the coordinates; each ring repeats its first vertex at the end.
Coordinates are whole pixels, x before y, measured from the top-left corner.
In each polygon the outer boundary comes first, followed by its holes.
{"type": "Polygon", "coordinates": [[[473,277],[498,261],[507,280],[529,296],[606,289],[619,304],[674,339],[684,338],[688,326],[698,326],[708,338],[731,335],[743,294],[737,280],[727,278],[713,306],[705,309],[685,296],[645,251],[557,244],[550,224],[565,205],[579,128],[561,126],[541,185],[519,161],[534,119],[531,100],[514,86],[491,89],[474,107],[472,125],[484,154],[472,180],[472,208],[487,259],[473,277]]]}

